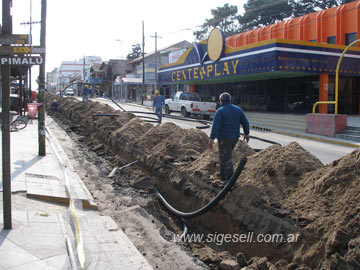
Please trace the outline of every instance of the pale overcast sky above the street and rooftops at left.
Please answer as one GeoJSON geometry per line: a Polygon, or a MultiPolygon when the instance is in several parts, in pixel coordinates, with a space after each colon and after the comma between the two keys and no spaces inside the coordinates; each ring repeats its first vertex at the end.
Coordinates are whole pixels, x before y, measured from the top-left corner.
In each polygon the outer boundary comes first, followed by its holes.
{"type": "MultiPolygon", "coordinates": [[[[30,21],[30,3],[32,21],[40,21],[41,0],[13,0],[14,34],[29,34],[29,25],[21,23],[30,21]]],[[[142,21],[146,53],[155,50],[155,32],[161,37],[158,49],[192,42],[193,30],[225,3],[242,14],[246,0],[47,0],[46,71],[83,56],[125,58],[132,45],[142,44],[142,21]]],[[[33,24],[32,33],[33,44],[40,45],[40,24],[33,24]]]]}

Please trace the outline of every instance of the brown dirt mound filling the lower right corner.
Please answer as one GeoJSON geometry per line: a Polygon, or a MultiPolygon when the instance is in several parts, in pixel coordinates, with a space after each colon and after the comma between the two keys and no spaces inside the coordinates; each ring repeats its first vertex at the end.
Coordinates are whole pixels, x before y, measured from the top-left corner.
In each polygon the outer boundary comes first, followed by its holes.
{"type": "Polygon", "coordinates": [[[316,237],[298,256],[321,269],[360,269],[359,172],[357,150],[304,177],[284,200],[294,219],[316,237]]]}

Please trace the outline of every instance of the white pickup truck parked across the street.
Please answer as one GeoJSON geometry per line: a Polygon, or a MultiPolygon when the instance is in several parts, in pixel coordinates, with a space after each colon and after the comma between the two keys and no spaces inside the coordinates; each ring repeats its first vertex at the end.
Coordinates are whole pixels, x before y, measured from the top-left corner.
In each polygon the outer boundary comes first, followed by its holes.
{"type": "Polygon", "coordinates": [[[177,92],[174,98],[165,100],[165,113],[181,112],[182,117],[189,117],[191,114],[202,115],[209,119],[216,111],[215,102],[201,102],[200,96],[193,93],[177,92]]]}

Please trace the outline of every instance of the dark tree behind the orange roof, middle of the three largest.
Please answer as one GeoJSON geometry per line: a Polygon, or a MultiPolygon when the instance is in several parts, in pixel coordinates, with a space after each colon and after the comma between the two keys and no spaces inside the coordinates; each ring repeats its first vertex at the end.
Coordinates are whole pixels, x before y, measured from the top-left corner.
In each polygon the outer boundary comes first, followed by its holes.
{"type": "Polygon", "coordinates": [[[245,13],[239,19],[242,31],[274,24],[293,13],[288,0],[248,0],[244,9],[245,13]]]}

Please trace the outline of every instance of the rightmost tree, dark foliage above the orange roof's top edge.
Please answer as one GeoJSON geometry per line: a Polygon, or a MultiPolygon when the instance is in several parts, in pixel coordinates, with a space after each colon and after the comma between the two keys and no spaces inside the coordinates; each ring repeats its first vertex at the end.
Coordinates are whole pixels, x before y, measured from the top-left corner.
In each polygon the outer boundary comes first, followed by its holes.
{"type": "Polygon", "coordinates": [[[292,0],[294,17],[302,16],[322,9],[336,7],[355,0],[292,0]]]}

